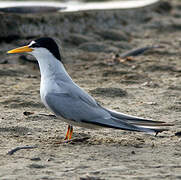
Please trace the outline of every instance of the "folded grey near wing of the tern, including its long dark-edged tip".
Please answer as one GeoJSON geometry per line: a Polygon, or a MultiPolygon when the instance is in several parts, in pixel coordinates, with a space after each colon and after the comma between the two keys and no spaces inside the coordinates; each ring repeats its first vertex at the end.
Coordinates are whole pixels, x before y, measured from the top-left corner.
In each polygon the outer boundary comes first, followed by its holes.
{"type": "Polygon", "coordinates": [[[139,128],[121,120],[118,121],[97,103],[95,104],[94,99],[92,102],[92,99],[83,93],[78,94],[79,96],[69,93],[49,93],[45,99],[56,116],[62,116],[75,122],[130,131],[152,132],[152,130],[139,128]]]}

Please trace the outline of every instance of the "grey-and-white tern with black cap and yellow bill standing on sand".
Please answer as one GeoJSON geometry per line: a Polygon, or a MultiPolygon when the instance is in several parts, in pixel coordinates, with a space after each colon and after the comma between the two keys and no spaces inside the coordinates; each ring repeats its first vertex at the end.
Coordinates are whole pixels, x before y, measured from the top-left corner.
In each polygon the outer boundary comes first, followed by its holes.
{"type": "Polygon", "coordinates": [[[72,80],[65,69],[59,47],[51,37],[38,38],[7,53],[29,53],[37,59],[41,74],[41,100],[58,119],[68,123],[65,140],[72,139],[73,126],[112,128],[155,135],[168,130],[163,126],[170,124],[164,121],[127,115],[100,105],[72,80]]]}

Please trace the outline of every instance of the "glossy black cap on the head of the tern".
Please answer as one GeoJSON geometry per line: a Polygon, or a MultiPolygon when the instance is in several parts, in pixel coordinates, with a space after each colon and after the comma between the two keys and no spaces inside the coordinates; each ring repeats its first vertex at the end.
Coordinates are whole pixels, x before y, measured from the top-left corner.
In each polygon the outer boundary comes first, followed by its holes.
{"type": "Polygon", "coordinates": [[[57,46],[57,43],[49,37],[43,37],[43,38],[39,38],[34,40],[35,43],[32,44],[30,47],[32,48],[46,48],[48,49],[58,60],[61,61],[61,56],[60,56],[60,52],[57,46]]]}

